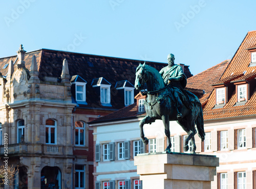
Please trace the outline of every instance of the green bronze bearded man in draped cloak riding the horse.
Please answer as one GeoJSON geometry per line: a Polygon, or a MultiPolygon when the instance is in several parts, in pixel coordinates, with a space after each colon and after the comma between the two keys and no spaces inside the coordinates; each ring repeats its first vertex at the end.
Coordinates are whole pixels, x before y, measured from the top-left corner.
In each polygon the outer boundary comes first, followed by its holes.
{"type": "Polygon", "coordinates": [[[167,85],[170,82],[170,86],[177,88],[178,90],[172,90],[174,93],[174,97],[176,100],[176,109],[177,109],[177,119],[180,120],[182,118],[182,102],[189,109],[191,109],[191,105],[189,103],[189,98],[184,88],[187,84],[187,78],[184,74],[182,67],[180,65],[174,64],[174,55],[169,54],[167,56],[168,66],[162,68],[160,70],[160,74],[163,77],[164,83],[167,85]]]}

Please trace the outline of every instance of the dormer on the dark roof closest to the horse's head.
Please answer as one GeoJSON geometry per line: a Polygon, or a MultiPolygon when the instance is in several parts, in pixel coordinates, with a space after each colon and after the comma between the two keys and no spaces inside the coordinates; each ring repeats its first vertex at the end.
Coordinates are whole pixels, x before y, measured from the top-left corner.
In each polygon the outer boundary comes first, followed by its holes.
{"type": "Polygon", "coordinates": [[[122,80],[116,83],[115,88],[118,94],[123,99],[124,105],[130,105],[134,103],[134,86],[127,80],[122,80]]]}

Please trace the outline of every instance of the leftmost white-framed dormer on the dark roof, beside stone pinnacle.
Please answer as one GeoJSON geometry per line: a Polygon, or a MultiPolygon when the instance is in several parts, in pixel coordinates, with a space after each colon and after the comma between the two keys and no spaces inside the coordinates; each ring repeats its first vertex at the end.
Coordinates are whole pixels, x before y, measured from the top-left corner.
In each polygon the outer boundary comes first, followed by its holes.
{"type": "Polygon", "coordinates": [[[73,75],[70,80],[71,93],[78,104],[87,104],[86,102],[86,80],[79,75],[73,75]]]}

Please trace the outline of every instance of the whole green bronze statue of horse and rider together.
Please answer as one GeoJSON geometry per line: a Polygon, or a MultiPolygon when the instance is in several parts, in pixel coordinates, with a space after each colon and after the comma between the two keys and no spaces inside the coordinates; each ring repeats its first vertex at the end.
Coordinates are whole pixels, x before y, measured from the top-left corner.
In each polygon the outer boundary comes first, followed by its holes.
{"type": "Polygon", "coordinates": [[[144,136],[143,125],[161,119],[168,139],[165,151],[170,153],[172,144],[169,121],[177,121],[188,134],[184,151],[188,151],[188,142],[191,139],[190,153],[196,153],[194,136],[197,130],[202,141],[205,136],[202,105],[196,95],[184,90],[187,83],[186,75],[180,65],[174,64],[174,55],[169,54],[167,60],[168,66],[162,68],[160,72],[145,63],[140,64],[136,69],[135,88],[140,91],[144,90],[141,93],[146,95],[144,102],[146,116],[139,123],[140,137],[147,145],[148,139],[144,136]],[[195,125],[197,125],[197,130],[195,125]]]}

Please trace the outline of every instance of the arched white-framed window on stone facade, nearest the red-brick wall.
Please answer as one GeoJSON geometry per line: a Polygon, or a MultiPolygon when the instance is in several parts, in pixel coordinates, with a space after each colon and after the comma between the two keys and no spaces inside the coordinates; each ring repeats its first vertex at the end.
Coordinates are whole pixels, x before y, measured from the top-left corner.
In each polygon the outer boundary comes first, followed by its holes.
{"type": "Polygon", "coordinates": [[[46,120],[46,144],[56,144],[56,121],[46,120]]]}

